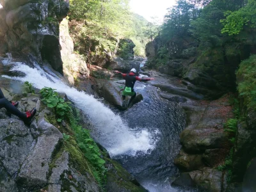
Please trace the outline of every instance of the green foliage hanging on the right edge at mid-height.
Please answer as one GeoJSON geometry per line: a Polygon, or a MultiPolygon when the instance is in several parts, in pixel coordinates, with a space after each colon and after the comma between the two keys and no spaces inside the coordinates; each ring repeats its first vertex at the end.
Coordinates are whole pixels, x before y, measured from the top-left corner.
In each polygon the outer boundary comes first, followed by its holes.
{"type": "Polygon", "coordinates": [[[239,96],[243,97],[248,109],[256,109],[256,55],[241,62],[237,70],[239,96]]]}

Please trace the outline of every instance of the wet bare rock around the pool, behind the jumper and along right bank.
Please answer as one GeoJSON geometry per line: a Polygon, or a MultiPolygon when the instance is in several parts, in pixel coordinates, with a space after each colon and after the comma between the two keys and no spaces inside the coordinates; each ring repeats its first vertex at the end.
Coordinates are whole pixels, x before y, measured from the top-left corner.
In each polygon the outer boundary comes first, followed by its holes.
{"type": "MultiPolygon", "coordinates": [[[[155,78],[154,81],[148,81],[148,84],[157,88],[159,99],[178,104],[186,113],[186,126],[180,132],[182,148],[173,160],[180,175],[173,181],[173,186],[225,191],[227,173],[217,168],[224,163],[232,147],[228,133],[224,131],[225,123],[233,116],[229,102],[232,95],[226,94],[217,100],[204,100],[204,95],[191,90],[191,87],[196,86],[178,77],[156,71],[142,73],[155,78]]],[[[122,100],[119,87],[124,85],[124,81],[116,79],[114,75],[112,77],[112,80],[97,79],[97,91],[110,104],[120,106],[122,100]]]]}

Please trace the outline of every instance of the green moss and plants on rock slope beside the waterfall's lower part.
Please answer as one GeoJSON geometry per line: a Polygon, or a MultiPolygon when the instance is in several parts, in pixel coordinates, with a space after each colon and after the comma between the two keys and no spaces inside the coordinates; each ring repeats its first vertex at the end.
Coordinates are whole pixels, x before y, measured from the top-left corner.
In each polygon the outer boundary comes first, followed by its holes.
{"type": "MultiPolygon", "coordinates": [[[[49,109],[55,112],[54,109],[49,109]]],[[[102,153],[95,141],[90,137],[89,131],[79,125],[79,115],[76,109],[72,113],[70,111],[70,115],[65,121],[66,124],[63,125],[58,122],[56,113],[45,114],[45,120],[57,127],[62,134],[68,136],[63,141],[63,147],[58,148],[58,151],[56,153],[54,152],[52,156],[49,175],[51,175],[52,168],[55,166],[56,159],[61,156],[61,152],[67,151],[69,153],[70,164],[83,175],[90,173],[103,189],[106,182],[106,168],[104,167],[106,162],[102,159],[102,153]]]]}

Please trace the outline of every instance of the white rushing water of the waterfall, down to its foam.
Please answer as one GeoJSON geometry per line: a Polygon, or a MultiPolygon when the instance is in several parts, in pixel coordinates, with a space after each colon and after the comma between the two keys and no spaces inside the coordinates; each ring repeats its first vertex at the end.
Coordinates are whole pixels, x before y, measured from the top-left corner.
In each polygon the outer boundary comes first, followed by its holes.
{"type": "MultiPolygon", "coordinates": [[[[76,88],[70,88],[58,77],[46,73],[38,65],[31,68],[24,63],[17,63],[13,65],[11,70],[23,72],[26,76],[3,77],[22,82],[29,81],[38,89],[46,86],[56,89],[57,92],[66,93],[77,108],[90,117],[93,125],[97,128],[96,140],[109,151],[111,156],[120,154],[134,156],[137,152],[148,153],[156,146],[157,139],[152,129],[151,133],[145,127],[138,127],[138,131],[130,130],[120,116],[115,115],[113,111],[93,98],[92,95],[79,92],[76,88]]],[[[157,129],[155,129],[155,132],[157,134],[157,129]]]]}

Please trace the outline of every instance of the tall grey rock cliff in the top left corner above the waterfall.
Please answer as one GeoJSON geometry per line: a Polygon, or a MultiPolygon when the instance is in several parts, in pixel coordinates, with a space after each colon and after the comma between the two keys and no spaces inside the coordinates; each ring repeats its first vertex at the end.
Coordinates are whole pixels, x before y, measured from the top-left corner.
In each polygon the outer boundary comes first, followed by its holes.
{"type": "Polygon", "coordinates": [[[58,21],[67,15],[68,0],[8,0],[1,4],[0,54],[33,54],[38,61],[47,60],[52,68],[62,72],[58,21]]]}

